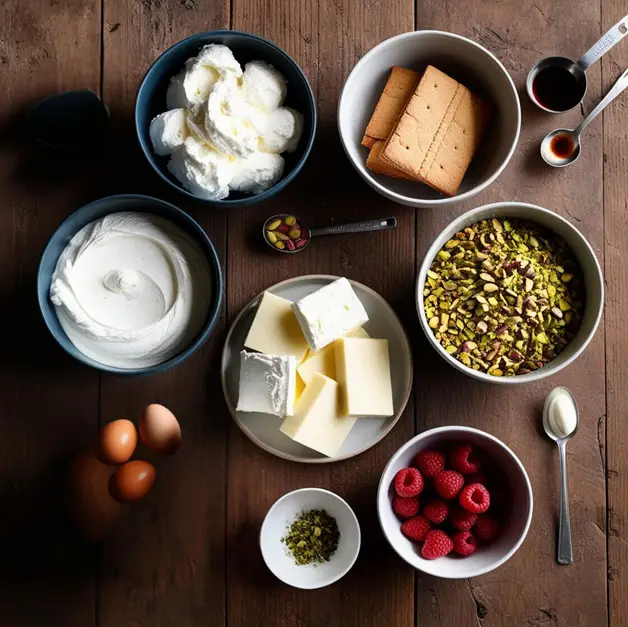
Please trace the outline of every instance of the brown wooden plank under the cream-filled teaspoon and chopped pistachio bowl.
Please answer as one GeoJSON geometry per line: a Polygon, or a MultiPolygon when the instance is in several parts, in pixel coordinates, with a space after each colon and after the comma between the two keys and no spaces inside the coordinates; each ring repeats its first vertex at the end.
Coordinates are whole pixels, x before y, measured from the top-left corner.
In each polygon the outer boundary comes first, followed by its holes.
{"type": "MultiPolygon", "coordinates": [[[[558,125],[573,128],[580,111],[559,120],[535,110],[525,93],[525,78],[536,60],[550,54],[577,58],[599,37],[599,21],[599,7],[584,0],[475,2],[472,10],[437,0],[417,3],[417,27],[466,35],[496,54],[515,80],[523,109],[519,148],[500,179],[465,206],[418,214],[419,263],[429,243],[453,217],[498,200],[526,201],[557,211],[582,230],[602,261],[601,126],[587,129],[581,161],[562,171],[551,170],[539,157],[540,140],[558,125]]],[[[587,111],[600,97],[599,66],[592,67],[588,77],[587,111]]],[[[429,350],[423,341],[419,354],[429,350]]],[[[491,387],[432,359],[417,364],[419,428],[467,424],[493,433],[520,457],[535,496],[528,538],[506,565],[470,581],[419,578],[421,627],[606,624],[604,387],[603,326],[576,364],[535,385],[491,387]],[[578,435],[568,447],[575,558],[568,568],[555,561],[558,455],[540,430],[542,403],[558,385],[574,392],[582,418],[578,435]],[[446,404],[444,389],[452,391],[446,404]]]]}

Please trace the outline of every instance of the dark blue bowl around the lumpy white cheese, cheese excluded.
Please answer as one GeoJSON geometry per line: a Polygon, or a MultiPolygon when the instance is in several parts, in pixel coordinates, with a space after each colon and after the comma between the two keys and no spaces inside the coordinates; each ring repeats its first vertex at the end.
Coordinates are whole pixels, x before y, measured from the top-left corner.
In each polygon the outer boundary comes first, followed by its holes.
{"type": "Polygon", "coordinates": [[[301,171],[314,144],[316,135],[316,103],[312,88],[303,70],[275,44],[249,33],[239,31],[217,30],[192,35],[178,44],[168,48],[151,65],[140,84],[135,101],[135,129],[140,146],[155,172],[169,185],[182,194],[199,202],[223,207],[251,205],[271,198],[286,187],[301,171]],[[150,121],[166,110],[166,91],[170,79],[178,74],[185,62],[207,44],[223,44],[231,48],[240,65],[249,61],[266,61],[275,66],[288,81],[286,106],[292,107],[303,114],[303,135],[297,149],[293,153],[285,153],[286,168],[283,178],[273,187],[261,194],[244,194],[231,192],[224,200],[206,200],[185,190],[168,172],[166,165],[169,157],[160,157],[153,151],[150,141],[150,121]]]}

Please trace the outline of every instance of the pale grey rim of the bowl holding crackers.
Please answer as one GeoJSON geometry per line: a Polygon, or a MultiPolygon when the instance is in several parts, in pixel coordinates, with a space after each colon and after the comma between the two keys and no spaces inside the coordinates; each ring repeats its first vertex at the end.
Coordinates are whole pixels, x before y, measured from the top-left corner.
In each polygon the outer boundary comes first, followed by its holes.
{"type": "Polygon", "coordinates": [[[454,203],[460,202],[462,200],[467,200],[467,199],[472,198],[473,196],[479,194],[481,191],[486,189],[489,185],[492,185],[497,180],[497,178],[501,175],[501,173],[506,169],[506,166],[510,163],[510,160],[512,159],[512,155],[514,154],[515,150],[517,149],[517,145],[519,144],[519,136],[521,134],[521,102],[520,102],[520,99],[519,99],[519,92],[517,91],[517,87],[515,86],[515,83],[512,80],[512,77],[508,73],[508,70],[506,69],[504,64],[490,50],[488,50],[487,48],[485,48],[481,44],[476,43],[472,39],[469,39],[467,37],[463,37],[462,35],[457,35],[456,33],[449,33],[447,31],[442,31],[442,30],[426,29],[426,30],[410,31],[410,32],[407,32],[407,33],[401,33],[400,35],[395,35],[394,37],[389,37],[388,39],[384,39],[384,41],[380,41],[380,43],[378,43],[376,46],[371,48],[353,66],[353,69],[351,70],[351,72],[349,72],[349,76],[347,76],[347,79],[345,80],[344,85],[342,86],[342,90],[340,92],[340,97],[338,98],[338,107],[336,109],[336,119],[337,119],[337,125],[338,125],[338,135],[340,135],[340,142],[342,143],[342,147],[343,147],[343,149],[345,151],[345,154],[347,155],[347,159],[349,160],[351,165],[355,168],[356,172],[375,191],[379,192],[380,194],[382,194],[383,196],[385,196],[389,200],[392,200],[394,202],[398,202],[398,203],[400,203],[402,205],[406,205],[406,206],[409,206],[409,207],[444,207],[444,206],[447,206],[447,205],[452,205],[454,203]],[[473,46],[474,48],[478,48],[480,51],[482,51],[484,54],[486,54],[497,65],[497,67],[503,72],[504,76],[506,77],[506,79],[507,79],[507,81],[508,81],[508,83],[510,85],[510,88],[512,90],[512,95],[514,97],[514,102],[516,104],[516,113],[517,113],[517,132],[515,133],[515,136],[514,136],[514,138],[512,140],[512,143],[511,143],[511,146],[510,146],[510,150],[508,151],[508,154],[506,155],[506,157],[504,158],[502,163],[499,165],[497,170],[495,170],[495,172],[488,179],[486,179],[486,181],[484,181],[483,183],[480,183],[479,185],[476,185],[475,187],[471,188],[470,190],[468,190],[466,192],[463,192],[462,194],[456,194],[455,196],[451,196],[451,197],[444,196],[442,198],[434,198],[432,200],[424,200],[422,198],[414,198],[413,196],[404,196],[403,194],[398,194],[397,192],[394,192],[394,191],[388,189],[386,186],[382,185],[381,183],[378,183],[366,171],[366,168],[364,168],[364,171],[359,169],[357,164],[354,162],[354,160],[351,158],[351,155],[349,154],[349,149],[347,147],[347,143],[348,142],[347,142],[347,140],[345,140],[345,137],[344,137],[344,134],[342,132],[341,125],[340,125],[340,107],[342,106],[342,99],[344,97],[345,90],[347,89],[347,86],[349,85],[349,82],[351,81],[351,77],[353,76],[354,72],[359,67],[361,67],[362,65],[366,64],[368,62],[368,60],[371,58],[371,56],[375,56],[377,54],[377,51],[380,48],[380,46],[386,45],[386,44],[390,43],[393,40],[397,40],[397,39],[412,39],[414,37],[421,36],[421,35],[426,35],[426,34],[442,35],[444,37],[449,37],[451,39],[458,39],[460,41],[464,41],[465,43],[473,46]]]}

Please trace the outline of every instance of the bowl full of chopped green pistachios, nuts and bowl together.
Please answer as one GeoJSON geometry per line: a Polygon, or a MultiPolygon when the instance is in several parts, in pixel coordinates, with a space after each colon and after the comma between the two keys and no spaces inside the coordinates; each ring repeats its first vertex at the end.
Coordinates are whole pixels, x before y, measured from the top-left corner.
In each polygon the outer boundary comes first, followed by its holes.
{"type": "Polygon", "coordinates": [[[558,214],[517,202],[472,209],[425,255],[421,327],[465,374],[516,384],[550,377],[587,347],[602,317],[604,279],[585,237],[558,214]]]}

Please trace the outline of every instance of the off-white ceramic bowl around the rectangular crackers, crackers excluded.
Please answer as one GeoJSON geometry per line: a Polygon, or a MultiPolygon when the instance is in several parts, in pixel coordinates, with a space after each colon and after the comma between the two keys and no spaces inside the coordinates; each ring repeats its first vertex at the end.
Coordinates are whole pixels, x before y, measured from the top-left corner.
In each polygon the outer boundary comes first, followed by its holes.
{"type": "Polygon", "coordinates": [[[506,167],[519,140],[521,106],[506,68],[486,48],[441,31],[416,31],[386,39],[353,68],[338,103],[338,130],[349,160],[377,192],[403,205],[434,207],[465,200],[488,187],[506,167]],[[493,117],[480,150],[458,190],[448,198],[421,183],[366,169],[362,136],[393,65],[420,70],[431,64],[493,104],[493,117]]]}

